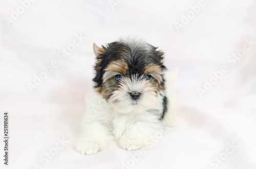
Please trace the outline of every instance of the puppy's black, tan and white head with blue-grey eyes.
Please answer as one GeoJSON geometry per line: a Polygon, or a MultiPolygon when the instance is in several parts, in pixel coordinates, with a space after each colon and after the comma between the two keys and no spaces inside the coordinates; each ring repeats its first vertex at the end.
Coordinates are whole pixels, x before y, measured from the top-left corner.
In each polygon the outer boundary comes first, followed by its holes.
{"type": "Polygon", "coordinates": [[[164,89],[163,53],[142,41],[94,45],[97,91],[120,113],[140,113],[157,103],[164,89]]]}

